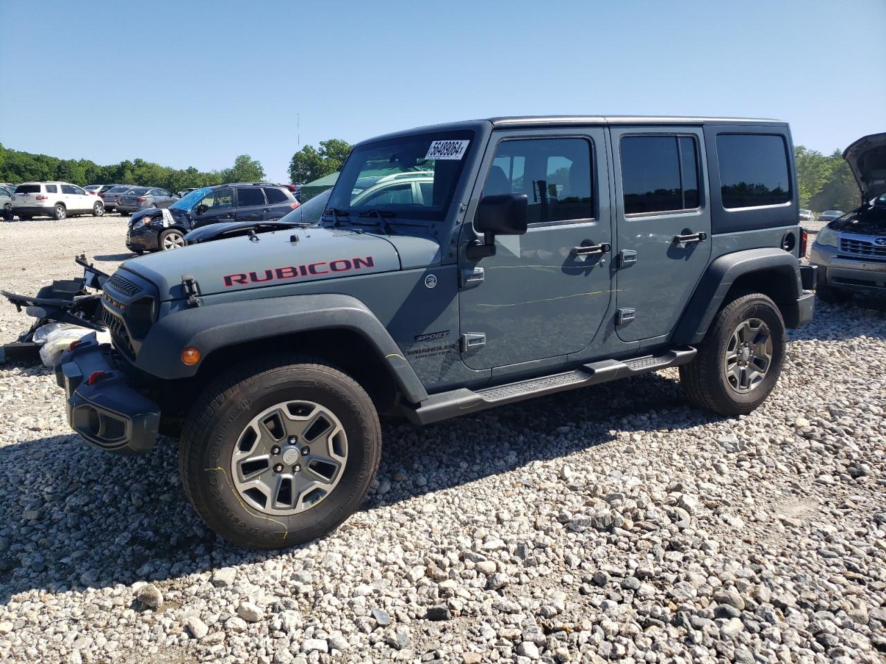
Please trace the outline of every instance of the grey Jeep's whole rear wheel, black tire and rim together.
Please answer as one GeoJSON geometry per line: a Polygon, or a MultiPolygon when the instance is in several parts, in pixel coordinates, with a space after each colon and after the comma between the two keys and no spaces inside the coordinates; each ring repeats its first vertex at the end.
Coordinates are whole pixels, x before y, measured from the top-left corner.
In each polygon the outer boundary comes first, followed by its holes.
{"type": "Polygon", "coordinates": [[[762,293],[736,297],[717,314],[696,359],[680,367],[680,383],[697,406],[721,415],[750,413],[774,389],[784,346],[775,303],[762,293]]]}

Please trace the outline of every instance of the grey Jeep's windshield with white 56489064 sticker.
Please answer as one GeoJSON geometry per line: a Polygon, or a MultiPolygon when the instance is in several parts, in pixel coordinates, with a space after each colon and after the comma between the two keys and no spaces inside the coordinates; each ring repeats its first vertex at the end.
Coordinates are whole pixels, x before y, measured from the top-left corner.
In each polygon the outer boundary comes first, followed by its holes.
{"type": "Polygon", "coordinates": [[[323,219],[373,226],[443,220],[473,138],[462,130],[358,145],[338,175],[323,219]]]}

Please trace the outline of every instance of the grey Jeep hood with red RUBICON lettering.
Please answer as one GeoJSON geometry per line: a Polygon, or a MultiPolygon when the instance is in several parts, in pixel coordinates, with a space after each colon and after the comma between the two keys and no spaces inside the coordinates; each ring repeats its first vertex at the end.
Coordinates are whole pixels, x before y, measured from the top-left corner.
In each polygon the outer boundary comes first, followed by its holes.
{"type": "Polygon", "coordinates": [[[157,285],[161,300],[186,297],[182,279],[193,277],[200,295],[314,282],[400,269],[394,245],[350,229],[299,228],[230,237],[175,251],[129,259],[123,269],[157,285]],[[291,237],[298,236],[298,242],[291,237]]]}

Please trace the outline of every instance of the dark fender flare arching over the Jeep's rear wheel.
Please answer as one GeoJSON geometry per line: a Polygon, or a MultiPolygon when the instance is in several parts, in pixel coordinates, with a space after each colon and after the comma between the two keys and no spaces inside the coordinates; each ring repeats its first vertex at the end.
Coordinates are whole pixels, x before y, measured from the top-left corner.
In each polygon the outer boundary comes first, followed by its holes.
{"type": "Polygon", "coordinates": [[[698,282],[696,292],[683,310],[677,328],[674,329],[672,341],[690,345],[700,343],[714,316],[723,305],[729,289],[738,278],[745,274],[763,271],[776,271],[785,276],[789,275],[788,290],[795,301],[803,293],[799,262],[796,256],[787,251],[763,247],[724,254],[711,261],[711,265],[698,282]]]}

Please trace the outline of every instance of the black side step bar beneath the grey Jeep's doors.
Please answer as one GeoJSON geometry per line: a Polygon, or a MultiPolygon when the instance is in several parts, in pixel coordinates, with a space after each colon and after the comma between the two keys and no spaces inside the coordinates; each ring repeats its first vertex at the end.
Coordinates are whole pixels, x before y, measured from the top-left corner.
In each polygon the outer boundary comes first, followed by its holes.
{"type": "Polygon", "coordinates": [[[634,359],[603,359],[590,362],[572,371],[552,374],[528,381],[510,382],[483,390],[459,388],[431,395],[421,405],[402,405],[402,413],[416,424],[447,420],[451,417],[476,413],[496,405],[512,404],[527,398],[541,397],[564,390],[596,385],[632,375],[648,374],[667,367],[680,367],[696,357],[696,349],[680,346],[661,355],[646,355],[634,359]]]}

